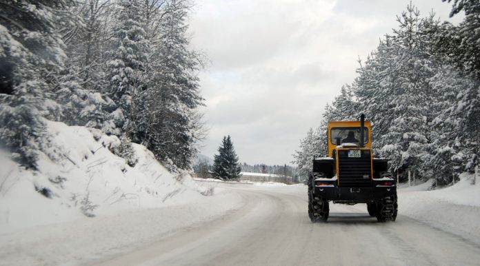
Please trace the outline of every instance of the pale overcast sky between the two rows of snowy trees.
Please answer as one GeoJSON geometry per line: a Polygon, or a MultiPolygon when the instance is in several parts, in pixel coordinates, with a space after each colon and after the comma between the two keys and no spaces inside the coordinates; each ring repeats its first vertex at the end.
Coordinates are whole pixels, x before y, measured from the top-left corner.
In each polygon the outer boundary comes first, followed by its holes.
{"type": "MultiPolygon", "coordinates": [[[[357,75],[408,0],[196,0],[192,46],[211,63],[201,73],[213,157],[230,134],[240,161],[290,164],[323,108],[357,75]]],[[[423,16],[449,19],[450,3],[413,1],[423,16]]]]}

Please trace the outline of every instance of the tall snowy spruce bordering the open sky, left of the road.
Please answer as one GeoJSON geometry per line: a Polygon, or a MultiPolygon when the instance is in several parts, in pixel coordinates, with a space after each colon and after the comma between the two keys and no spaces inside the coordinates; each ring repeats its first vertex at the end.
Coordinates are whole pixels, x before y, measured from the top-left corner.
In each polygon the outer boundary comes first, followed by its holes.
{"type": "Polygon", "coordinates": [[[146,65],[148,88],[138,98],[144,108],[136,112],[134,141],[144,143],[161,161],[188,169],[197,154],[197,142],[204,136],[197,112],[203,105],[197,76],[201,60],[189,48],[188,1],[172,0],[163,5],[159,34],[150,36],[155,41],[146,65]]]}

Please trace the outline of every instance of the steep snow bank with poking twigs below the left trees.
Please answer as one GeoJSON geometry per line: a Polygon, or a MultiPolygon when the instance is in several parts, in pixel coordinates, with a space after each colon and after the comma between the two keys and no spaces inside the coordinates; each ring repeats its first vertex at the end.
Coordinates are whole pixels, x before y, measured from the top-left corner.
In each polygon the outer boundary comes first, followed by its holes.
{"type": "Polygon", "coordinates": [[[0,152],[0,233],[212,194],[188,174],[168,172],[142,145],[133,145],[139,161],[130,167],[108,150],[119,143],[117,137],[64,123],[47,125],[52,147],[40,154],[38,171],[23,169],[0,152]]]}

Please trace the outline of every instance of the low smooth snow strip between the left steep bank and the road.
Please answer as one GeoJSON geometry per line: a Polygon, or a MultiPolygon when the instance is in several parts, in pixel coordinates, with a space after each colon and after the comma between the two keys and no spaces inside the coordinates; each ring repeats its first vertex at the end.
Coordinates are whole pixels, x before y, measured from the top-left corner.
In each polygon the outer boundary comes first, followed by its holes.
{"type": "Polygon", "coordinates": [[[188,204],[131,209],[0,234],[0,265],[78,265],[116,256],[221,218],[243,204],[238,194],[219,192],[188,204]]]}

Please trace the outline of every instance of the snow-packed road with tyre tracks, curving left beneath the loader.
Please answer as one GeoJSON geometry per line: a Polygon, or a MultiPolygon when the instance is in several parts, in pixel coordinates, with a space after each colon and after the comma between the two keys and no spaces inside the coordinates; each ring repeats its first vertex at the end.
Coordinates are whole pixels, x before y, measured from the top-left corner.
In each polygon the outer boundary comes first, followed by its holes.
{"type": "MultiPolygon", "coordinates": [[[[480,245],[401,215],[377,223],[365,205],[330,205],[310,223],[305,187],[228,186],[246,205],[134,251],[87,265],[480,265],[480,245]]],[[[400,198],[401,200],[401,198],[400,198]]]]}

